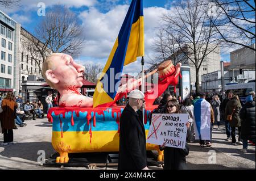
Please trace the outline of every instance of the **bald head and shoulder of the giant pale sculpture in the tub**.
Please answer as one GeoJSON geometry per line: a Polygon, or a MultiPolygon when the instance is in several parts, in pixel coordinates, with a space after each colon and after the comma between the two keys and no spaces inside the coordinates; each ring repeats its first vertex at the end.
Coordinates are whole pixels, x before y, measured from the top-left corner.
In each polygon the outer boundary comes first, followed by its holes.
{"type": "Polygon", "coordinates": [[[92,107],[93,99],[80,94],[84,66],[64,53],[52,53],[43,62],[43,76],[49,86],[60,92],[60,107],[92,107]]]}

